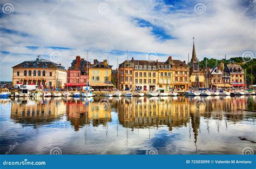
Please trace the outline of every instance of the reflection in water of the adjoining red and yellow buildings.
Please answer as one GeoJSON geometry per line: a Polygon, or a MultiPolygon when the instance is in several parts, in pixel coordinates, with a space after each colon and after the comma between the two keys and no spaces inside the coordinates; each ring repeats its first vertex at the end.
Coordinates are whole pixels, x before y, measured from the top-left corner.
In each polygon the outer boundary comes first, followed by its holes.
{"type": "Polygon", "coordinates": [[[69,100],[66,103],[66,112],[68,120],[75,126],[75,130],[85,124],[89,125],[92,121],[93,126],[103,124],[111,121],[111,106],[103,107],[99,103],[99,98],[92,100],[69,100]],[[86,122],[87,121],[87,122],[86,122]]]}

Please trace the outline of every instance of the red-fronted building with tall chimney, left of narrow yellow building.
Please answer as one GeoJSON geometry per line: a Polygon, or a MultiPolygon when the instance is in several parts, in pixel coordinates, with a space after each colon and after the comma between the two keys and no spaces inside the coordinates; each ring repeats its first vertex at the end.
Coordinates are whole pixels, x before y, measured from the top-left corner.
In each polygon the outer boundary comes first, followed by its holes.
{"type": "Polygon", "coordinates": [[[72,61],[71,67],[69,67],[67,83],[65,83],[65,86],[86,86],[89,82],[87,65],[90,67],[91,63],[87,63],[84,58],[77,56],[76,59],[72,61]]]}

